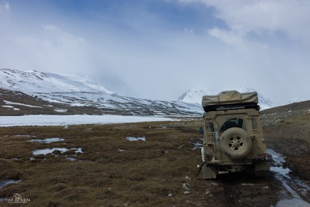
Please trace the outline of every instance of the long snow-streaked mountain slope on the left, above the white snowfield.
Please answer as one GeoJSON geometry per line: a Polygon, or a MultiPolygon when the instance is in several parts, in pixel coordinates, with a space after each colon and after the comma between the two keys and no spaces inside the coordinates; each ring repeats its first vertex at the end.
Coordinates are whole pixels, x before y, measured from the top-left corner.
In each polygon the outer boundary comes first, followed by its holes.
{"type": "Polygon", "coordinates": [[[96,114],[202,115],[203,113],[201,105],[129,97],[109,90],[103,84],[82,75],[58,75],[36,70],[0,68],[0,88],[21,91],[31,97],[50,102],[51,105],[63,105],[63,112],[67,111],[66,107],[87,107],[96,114]]]}

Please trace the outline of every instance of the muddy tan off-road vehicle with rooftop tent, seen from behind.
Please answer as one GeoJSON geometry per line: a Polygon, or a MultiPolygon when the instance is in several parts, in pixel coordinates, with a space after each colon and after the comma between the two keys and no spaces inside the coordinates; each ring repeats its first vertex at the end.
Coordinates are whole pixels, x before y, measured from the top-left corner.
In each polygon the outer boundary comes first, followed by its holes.
{"type": "Polygon", "coordinates": [[[202,105],[203,179],[249,168],[255,169],[256,176],[267,176],[269,165],[257,92],[229,90],[205,95],[202,105]]]}

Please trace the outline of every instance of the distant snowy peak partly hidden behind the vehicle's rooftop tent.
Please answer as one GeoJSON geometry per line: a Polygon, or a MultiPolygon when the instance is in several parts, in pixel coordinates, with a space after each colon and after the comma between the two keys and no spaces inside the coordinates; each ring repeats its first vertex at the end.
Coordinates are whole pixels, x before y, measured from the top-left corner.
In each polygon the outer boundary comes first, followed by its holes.
{"type": "MultiPolygon", "coordinates": [[[[237,90],[239,92],[256,91],[252,89],[252,87],[247,86],[232,88],[230,90],[237,90]]],[[[190,89],[187,92],[183,93],[183,95],[178,98],[178,101],[201,105],[203,95],[217,95],[219,92],[220,91],[213,90],[210,87],[204,87],[203,89],[190,89]]],[[[257,92],[257,95],[261,110],[265,110],[274,106],[272,104],[272,101],[264,97],[262,94],[260,94],[260,92],[257,92]]]]}

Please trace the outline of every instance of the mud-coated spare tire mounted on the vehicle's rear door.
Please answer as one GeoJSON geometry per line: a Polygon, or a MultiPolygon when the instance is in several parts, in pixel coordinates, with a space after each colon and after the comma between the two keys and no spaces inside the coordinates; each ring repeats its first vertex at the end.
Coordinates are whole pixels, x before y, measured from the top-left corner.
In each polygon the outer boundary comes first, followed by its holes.
{"type": "Polygon", "coordinates": [[[230,158],[240,159],[252,149],[252,139],[244,129],[232,127],[220,137],[220,149],[230,158]]]}

